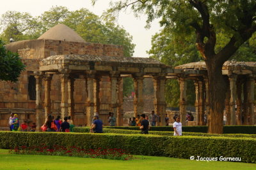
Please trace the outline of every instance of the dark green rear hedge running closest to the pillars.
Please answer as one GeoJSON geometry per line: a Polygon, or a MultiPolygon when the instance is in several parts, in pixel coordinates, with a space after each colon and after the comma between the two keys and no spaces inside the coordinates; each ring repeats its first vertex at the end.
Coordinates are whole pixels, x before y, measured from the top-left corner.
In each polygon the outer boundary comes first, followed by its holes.
{"type": "MultiPolygon", "coordinates": [[[[127,129],[127,130],[139,130],[135,126],[108,126],[106,128],[110,129],[127,129]]],[[[150,127],[152,131],[173,131],[172,126],[155,126],[150,127]]],[[[182,132],[201,132],[207,133],[208,127],[206,125],[202,126],[183,126],[182,132]]],[[[255,125],[227,125],[223,127],[224,134],[256,134],[255,125]]]]}

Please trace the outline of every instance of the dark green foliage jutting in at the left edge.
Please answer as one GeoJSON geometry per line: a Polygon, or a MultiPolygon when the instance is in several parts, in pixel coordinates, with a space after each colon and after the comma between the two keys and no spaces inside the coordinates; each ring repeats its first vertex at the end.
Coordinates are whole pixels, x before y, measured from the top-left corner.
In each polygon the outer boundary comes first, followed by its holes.
{"type": "Polygon", "coordinates": [[[25,70],[17,53],[6,50],[3,41],[0,39],[0,80],[17,81],[20,72],[25,70]]]}

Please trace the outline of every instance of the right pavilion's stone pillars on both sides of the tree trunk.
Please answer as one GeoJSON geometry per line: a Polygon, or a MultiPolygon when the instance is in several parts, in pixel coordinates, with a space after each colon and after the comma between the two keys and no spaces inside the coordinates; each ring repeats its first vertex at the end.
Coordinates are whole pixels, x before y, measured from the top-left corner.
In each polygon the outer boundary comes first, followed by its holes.
{"type": "MultiPolygon", "coordinates": [[[[236,74],[228,75],[229,88],[225,99],[225,112],[227,114],[226,125],[242,125],[242,113],[244,125],[255,124],[254,113],[254,82],[255,78],[249,75],[246,81],[237,81],[236,74]],[[243,102],[242,102],[243,85],[243,102]],[[237,109],[236,109],[237,106],[237,109]]],[[[207,78],[198,78],[195,81],[195,109],[196,125],[205,125],[204,115],[209,113],[209,81],[207,78]]],[[[179,78],[180,85],[180,118],[186,125],[186,97],[187,81],[184,77],[179,78]]]]}

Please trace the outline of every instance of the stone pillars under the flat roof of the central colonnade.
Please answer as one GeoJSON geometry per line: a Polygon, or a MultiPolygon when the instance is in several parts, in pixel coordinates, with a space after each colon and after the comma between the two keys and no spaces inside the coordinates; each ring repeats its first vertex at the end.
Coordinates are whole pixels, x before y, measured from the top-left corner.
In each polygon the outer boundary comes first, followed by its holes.
{"type": "MultiPolygon", "coordinates": [[[[36,72],[36,125],[39,128],[44,124],[45,118],[51,113],[51,80],[54,74],[60,75],[61,81],[61,118],[66,116],[74,116],[74,78],[72,73],[60,70],[58,73],[47,73],[47,71],[36,72]],[[42,104],[42,84],[44,83],[44,115],[42,104]]],[[[86,71],[84,73],[85,80],[85,112],[86,124],[92,124],[92,118],[95,112],[100,112],[100,80],[102,74],[97,71],[86,71]]],[[[104,74],[106,76],[106,74],[104,74]]],[[[111,87],[111,101],[109,106],[111,111],[116,115],[116,125],[122,125],[123,114],[123,96],[122,96],[122,76],[120,71],[109,71],[111,87]]],[[[134,116],[143,113],[143,74],[132,74],[134,78],[134,116]]],[[[162,74],[156,74],[154,78],[154,108],[157,115],[161,117],[160,125],[164,125],[164,114],[166,110],[166,103],[164,98],[164,84],[166,77],[162,74]]]]}

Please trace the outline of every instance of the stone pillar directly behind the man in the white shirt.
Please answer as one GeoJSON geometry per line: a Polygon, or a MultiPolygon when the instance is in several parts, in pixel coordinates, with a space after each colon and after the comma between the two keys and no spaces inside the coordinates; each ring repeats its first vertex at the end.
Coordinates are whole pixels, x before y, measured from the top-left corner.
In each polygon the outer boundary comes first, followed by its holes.
{"type": "Polygon", "coordinates": [[[187,81],[185,78],[179,78],[180,85],[180,122],[183,126],[186,125],[187,113],[187,81]]]}

